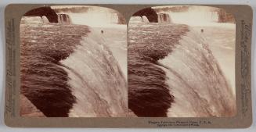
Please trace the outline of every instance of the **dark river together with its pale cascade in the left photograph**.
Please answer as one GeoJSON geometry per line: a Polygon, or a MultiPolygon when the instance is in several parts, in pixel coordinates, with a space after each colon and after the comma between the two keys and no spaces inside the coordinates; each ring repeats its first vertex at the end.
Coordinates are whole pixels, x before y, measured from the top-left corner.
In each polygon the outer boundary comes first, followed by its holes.
{"type": "Polygon", "coordinates": [[[126,116],[124,74],[92,27],[22,23],[20,42],[21,95],[45,116],[126,116]]]}

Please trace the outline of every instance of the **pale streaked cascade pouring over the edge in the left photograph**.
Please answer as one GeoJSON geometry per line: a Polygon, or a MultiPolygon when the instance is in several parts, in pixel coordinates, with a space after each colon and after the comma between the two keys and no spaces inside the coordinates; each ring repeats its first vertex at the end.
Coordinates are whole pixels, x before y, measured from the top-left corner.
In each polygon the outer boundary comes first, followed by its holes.
{"type": "Polygon", "coordinates": [[[61,61],[76,97],[69,116],[125,116],[128,90],[114,56],[93,31],[80,43],[72,55],[61,61]]]}

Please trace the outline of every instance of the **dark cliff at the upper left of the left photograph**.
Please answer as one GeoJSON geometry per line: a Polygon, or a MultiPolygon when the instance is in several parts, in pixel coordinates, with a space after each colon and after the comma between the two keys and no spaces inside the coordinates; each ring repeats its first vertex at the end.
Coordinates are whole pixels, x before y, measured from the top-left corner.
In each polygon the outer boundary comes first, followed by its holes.
{"type": "Polygon", "coordinates": [[[40,7],[26,12],[23,16],[46,16],[50,23],[58,23],[58,15],[50,7],[40,7]]]}

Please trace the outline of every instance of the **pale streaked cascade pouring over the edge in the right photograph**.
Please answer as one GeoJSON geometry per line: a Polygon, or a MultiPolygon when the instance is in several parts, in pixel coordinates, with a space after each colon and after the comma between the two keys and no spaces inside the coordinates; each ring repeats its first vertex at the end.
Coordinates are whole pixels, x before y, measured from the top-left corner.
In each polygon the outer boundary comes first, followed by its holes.
{"type": "Polygon", "coordinates": [[[175,102],[171,117],[234,116],[236,99],[209,45],[196,31],[182,37],[160,67],[167,73],[175,102]]]}

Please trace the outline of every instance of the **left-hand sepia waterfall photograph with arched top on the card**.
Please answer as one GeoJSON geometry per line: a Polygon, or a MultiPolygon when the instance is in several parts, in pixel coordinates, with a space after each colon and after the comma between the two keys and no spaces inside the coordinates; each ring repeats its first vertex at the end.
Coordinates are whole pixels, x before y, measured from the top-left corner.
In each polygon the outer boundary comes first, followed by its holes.
{"type": "Polygon", "coordinates": [[[20,21],[20,116],[123,117],[127,24],[114,9],[54,5],[20,21]]]}

